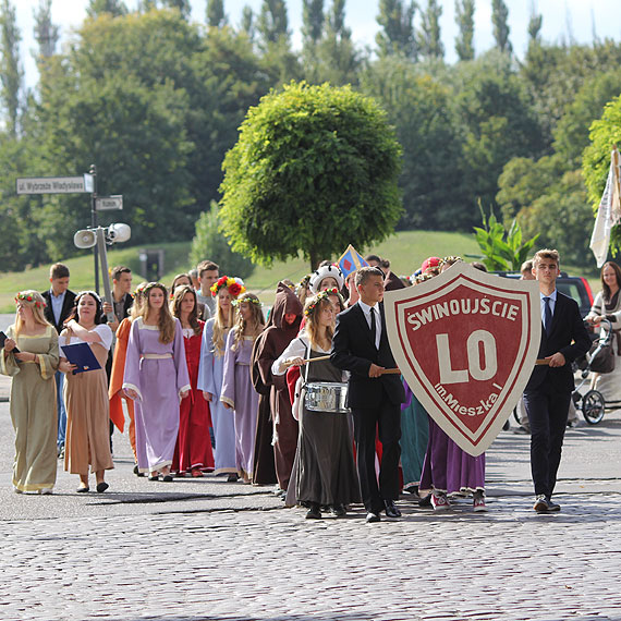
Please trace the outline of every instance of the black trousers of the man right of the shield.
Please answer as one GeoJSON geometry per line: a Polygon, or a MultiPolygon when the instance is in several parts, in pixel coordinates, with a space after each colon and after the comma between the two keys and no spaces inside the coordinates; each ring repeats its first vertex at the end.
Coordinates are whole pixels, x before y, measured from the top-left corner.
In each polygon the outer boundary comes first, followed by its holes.
{"type": "Polygon", "coordinates": [[[531,424],[531,472],[535,494],[552,496],[561,463],[571,392],[557,392],[544,385],[524,393],[524,406],[531,424]]]}

